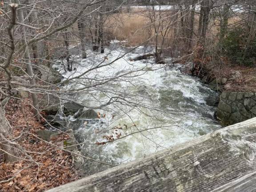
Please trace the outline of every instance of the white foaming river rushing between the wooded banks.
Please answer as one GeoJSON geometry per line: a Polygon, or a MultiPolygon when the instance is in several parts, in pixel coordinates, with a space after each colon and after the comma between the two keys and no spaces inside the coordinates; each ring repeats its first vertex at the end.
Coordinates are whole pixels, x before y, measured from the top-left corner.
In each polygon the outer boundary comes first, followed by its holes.
{"type": "MultiPolygon", "coordinates": [[[[61,70],[61,73],[66,78],[80,75],[104,58],[103,64],[107,64],[125,51],[127,49],[116,48],[112,51],[108,49],[104,54],[92,52],[87,59],[74,56],[76,70],[66,73],[61,70]]],[[[72,99],[89,106],[100,106],[112,96],[125,98],[96,110],[101,114],[100,119],[77,120],[69,117],[69,126],[76,129],[78,140],[86,143],[81,145],[84,155],[108,164],[119,164],[220,128],[213,118],[215,108],[206,102],[209,96],[216,96],[215,92],[198,78],[181,74],[179,66],[165,67],[154,64],[152,59],[131,60],[143,52],[144,47],[136,48],[110,66],[88,72],[64,87],[67,90],[79,89],[98,84],[106,80],[105,77],[117,77],[104,85],[81,89],[72,99]],[[103,136],[112,135],[114,142],[93,144],[106,142],[103,136]]],[[[61,68],[61,65],[55,67],[61,68]]],[[[92,173],[105,168],[94,162],[87,162],[86,165],[92,173]]]]}

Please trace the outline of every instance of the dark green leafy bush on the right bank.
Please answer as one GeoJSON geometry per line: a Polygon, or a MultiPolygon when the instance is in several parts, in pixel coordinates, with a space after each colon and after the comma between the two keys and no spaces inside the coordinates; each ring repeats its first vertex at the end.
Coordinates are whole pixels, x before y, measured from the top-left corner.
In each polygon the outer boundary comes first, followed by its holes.
{"type": "Polygon", "coordinates": [[[250,48],[244,57],[244,49],[248,33],[244,28],[229,29],[221,43],[224,54],[235,64],[252,66],[256,64],[256,38],[250,44],[250,48]]]}

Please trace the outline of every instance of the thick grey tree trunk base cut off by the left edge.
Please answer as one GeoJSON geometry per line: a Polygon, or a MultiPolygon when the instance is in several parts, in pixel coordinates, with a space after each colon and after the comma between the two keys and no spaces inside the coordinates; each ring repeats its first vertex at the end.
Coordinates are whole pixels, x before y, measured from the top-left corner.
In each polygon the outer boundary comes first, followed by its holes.
{"type": "MultiPolygon", "coordinates": [[[[11,134],[12,129],[10,128],[8,121],[4,116],[4,110],[0,104],[0,134],[7,137],[11,134]]],[[[14,162],[17,160],[15,148],[12,148],[8,142],[3,140],[0,136],[0,148],[4,151],[4,161],[14,162]]]]}

